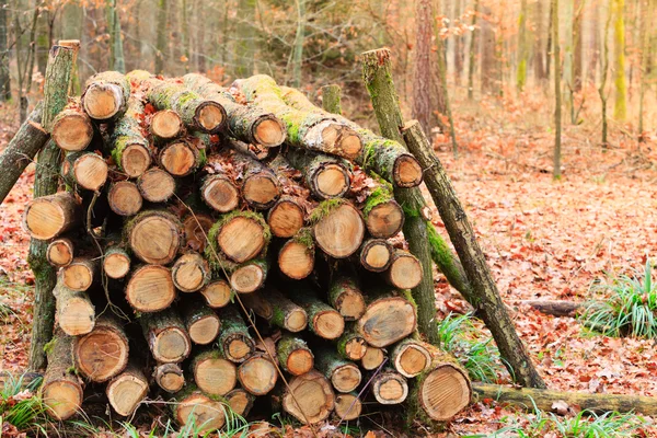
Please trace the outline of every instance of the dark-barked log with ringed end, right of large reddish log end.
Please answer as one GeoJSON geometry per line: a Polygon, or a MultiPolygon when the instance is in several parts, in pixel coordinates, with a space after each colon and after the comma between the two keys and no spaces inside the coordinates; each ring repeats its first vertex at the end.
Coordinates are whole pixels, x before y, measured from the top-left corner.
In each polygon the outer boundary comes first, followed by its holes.
{"type": "Polygon", "coordinates": [[[157,361],[173,364],[189,356],[192,342],[181,316],[174,310],[142,313],[139,323],[157,361]]]}

